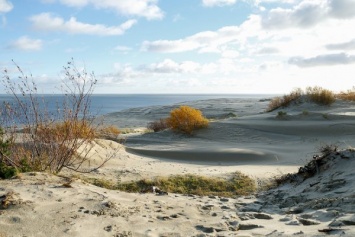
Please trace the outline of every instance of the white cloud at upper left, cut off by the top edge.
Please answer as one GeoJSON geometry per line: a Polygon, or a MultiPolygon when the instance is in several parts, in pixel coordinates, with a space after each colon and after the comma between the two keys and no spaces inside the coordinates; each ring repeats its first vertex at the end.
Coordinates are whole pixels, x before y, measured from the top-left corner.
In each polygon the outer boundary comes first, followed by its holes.
{"type": "MultiPolygon", "coordinates": [[[[43,1],[43,0],[42,0],[43,1]]],[[[48,0],[45,0],[48,1],[48,0]]],[[[50,2],[54,2],[51,0],[50,2]]],[[[163,11],[158,7],[157,0],[57,0],[69,7],[85,7],[92,5],[97,9],[114,10],[125,16],[145,17],[149,20],[162,19],[163,11]]]]}

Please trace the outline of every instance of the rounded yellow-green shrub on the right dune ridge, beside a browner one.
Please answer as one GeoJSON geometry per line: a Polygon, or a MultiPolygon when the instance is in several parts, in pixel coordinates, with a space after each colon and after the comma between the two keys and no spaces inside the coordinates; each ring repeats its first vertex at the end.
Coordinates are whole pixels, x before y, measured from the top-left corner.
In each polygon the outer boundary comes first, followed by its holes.
{"type": "Polygon", "coordinates": [[[335,102],[335,94],[327,89],[319,86],[306,88],[307,98],[314,103],[320,105],[331,105],[335,102]]]}

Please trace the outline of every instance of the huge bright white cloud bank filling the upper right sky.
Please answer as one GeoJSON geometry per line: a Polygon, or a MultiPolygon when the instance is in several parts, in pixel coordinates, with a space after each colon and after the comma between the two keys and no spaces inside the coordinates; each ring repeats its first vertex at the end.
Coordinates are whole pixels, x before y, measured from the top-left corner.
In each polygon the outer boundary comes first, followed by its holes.
{"type": "MultiPolygon", "coordinates": [[[[350,7],[348,1],[341,1],[350,7]]],[[[146,41],[142,49],[157,53],[187,51],[217,53],[220,59],[213,63],[215,70],[212,73],[226,75],[241,71],[251,73],[259,69],[271,70],[281,65],[305,68],[349,65],[355,62],[355,56],[347,52],[355,50],[354,34],[350,30],[355,24],[355,19],[350,19],[351,14],[343,14],[349,18],[346,20],[332,15],[332,9],[335,9],[332,5],[333,0],[299,0],[288,3],[295,3],[295,6],[291,6],[290,9],[269,10],[270,21],[266,21],[267,18],[261,15],[251,15],[239,26],[203,31],[177,40],[146,41]],[[280,17],[273,15],[277,12],[280,13],[280,17]],[[265,27],[265,23],[269,25],[265,27]],[[328,54],[327,50],[342,52],[328,54]]],[[[184,72],[176,62],[165,63],[153,66],[161,66],[158,69],[165,73],[184,72]]],[[[195,71],[201,71],[201,67],[201,65],[196,67],[195,71]]]]}

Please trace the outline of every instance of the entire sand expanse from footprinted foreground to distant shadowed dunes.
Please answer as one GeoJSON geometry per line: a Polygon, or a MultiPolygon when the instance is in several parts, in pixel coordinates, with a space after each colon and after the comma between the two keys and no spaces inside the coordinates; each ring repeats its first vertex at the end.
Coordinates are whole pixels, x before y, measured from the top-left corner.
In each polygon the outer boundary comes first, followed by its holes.
{"type": "MultiPolygon", "coordinates": [[[[260,180],[308,166],[278,188],[238,198],[124,193],[22,174],[0,181],[0,236],[355,236],[354,103],[293,105],[281,117],[280,110],[265,113],[268,100],[255,98],[184,104],[213,119],[209,128],[194,136],[121,135],[124,145],[98,140],[92,164],[114,157],[88,176],[128,181],[241,171],[260,180]],[[312,161],[324,144],[342,150],[312,161]]],[[[176,106],[129,109],[105,122],[142,131],[176,106]]]]}

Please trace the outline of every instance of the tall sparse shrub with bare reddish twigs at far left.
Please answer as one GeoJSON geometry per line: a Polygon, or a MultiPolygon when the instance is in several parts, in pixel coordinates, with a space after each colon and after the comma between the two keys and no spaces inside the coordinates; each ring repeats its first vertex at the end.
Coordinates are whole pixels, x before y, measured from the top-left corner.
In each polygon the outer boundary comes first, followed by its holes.
{"type": "Polygon", "coordinates": [[[6,134],[14,138],[11,155],[2,162],[19,168],[20,162],[35,171],[58,173],[63,168],[91,172],[96,167],[83,168],[93,149],[97,125],[90,114],[91,95],[96,85],[93,73],[79,70],[74,61],[64,66],[62,99],[50,110],[48,101],[38,94],[32,76],[27,76],[14,63],[17,75],[12,78],[4,70],[3,85],[12,100],[2,106],[1,118],[6,134]],[[22,133],[19,133],[22,129],[22,133]],[[80,148],[80,149],[79,149],[80,148]]]}

